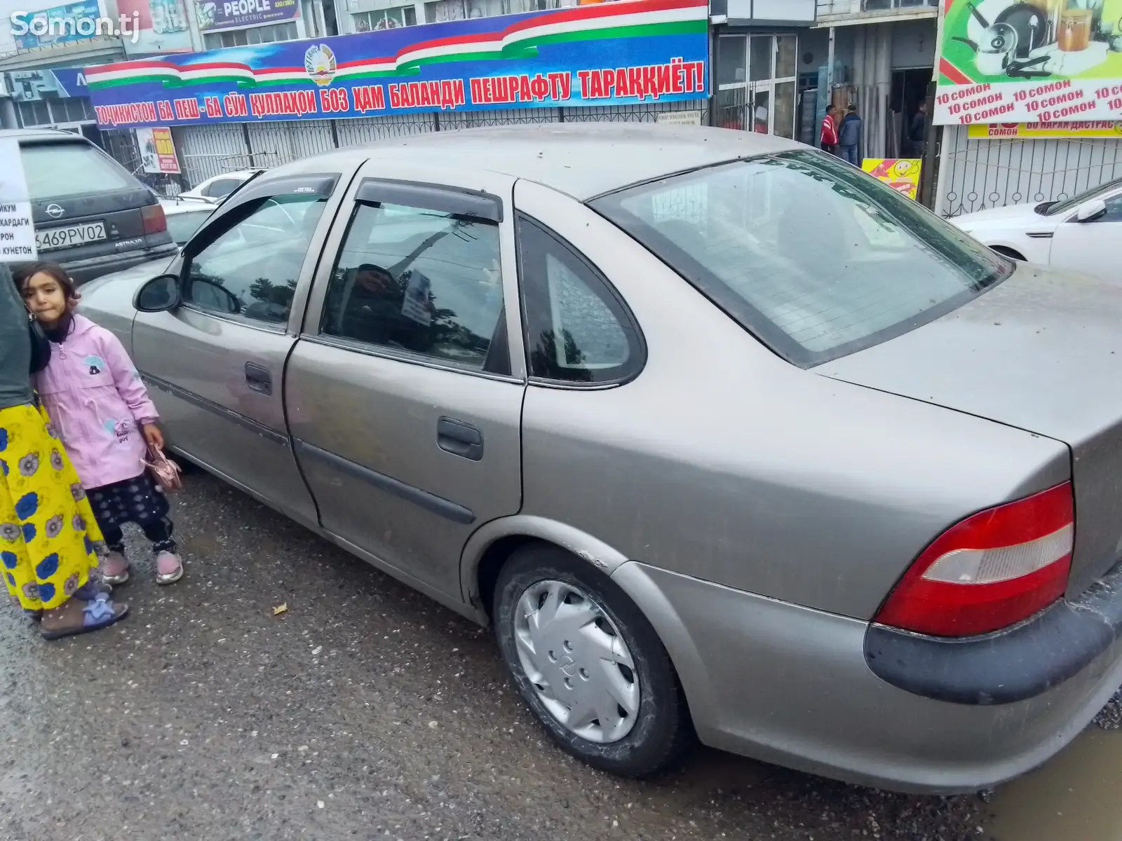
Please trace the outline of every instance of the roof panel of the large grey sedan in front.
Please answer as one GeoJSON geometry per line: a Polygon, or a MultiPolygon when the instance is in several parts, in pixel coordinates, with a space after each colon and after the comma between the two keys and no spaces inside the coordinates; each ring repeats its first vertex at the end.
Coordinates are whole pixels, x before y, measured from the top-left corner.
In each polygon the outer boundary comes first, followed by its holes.
{"type": "Polygon", "coordinates": [[[503,173],[588,201],[631,184],[728,160],[809,147],[749,131],[659,123],[537,123],[380,140],[269,169],[286,176],[367,160],[435,161],[503,173]]]}

